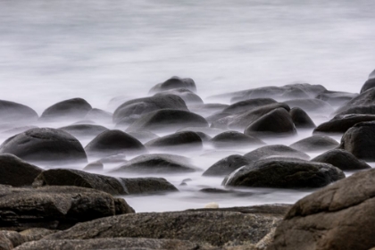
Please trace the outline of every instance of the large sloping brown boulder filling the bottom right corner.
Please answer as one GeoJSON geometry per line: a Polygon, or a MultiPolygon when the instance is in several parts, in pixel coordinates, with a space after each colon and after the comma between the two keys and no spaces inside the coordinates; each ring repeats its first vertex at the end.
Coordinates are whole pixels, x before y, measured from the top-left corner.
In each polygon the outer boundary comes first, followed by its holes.
{"type": "Polygon", "coordinates": [[[354,173],[299,200],[268,250],[367,250],[375,246],[375,170],[354,173]]]}

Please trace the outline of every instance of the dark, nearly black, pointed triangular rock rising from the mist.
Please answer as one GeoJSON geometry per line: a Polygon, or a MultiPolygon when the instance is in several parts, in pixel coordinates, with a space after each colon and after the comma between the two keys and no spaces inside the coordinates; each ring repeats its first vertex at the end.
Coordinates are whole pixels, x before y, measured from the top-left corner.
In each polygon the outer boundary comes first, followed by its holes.
{"type": "Polygon", "coordinates": [[[244,134],[255,137],[287,137],[296,134],[290,114],[283,108],[264,114],[246,127],[244,134]]]}

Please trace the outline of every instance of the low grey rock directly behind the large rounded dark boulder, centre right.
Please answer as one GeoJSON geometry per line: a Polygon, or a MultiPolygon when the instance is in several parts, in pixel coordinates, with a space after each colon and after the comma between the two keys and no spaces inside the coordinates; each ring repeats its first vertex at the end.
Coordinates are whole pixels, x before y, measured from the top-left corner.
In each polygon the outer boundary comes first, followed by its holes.
{"type": "Polygon", "coordinates": [[[265,159],[271,156],[287,156],[287,157],[296,157],[303,160],[309,160],[310,156],[304,154],[304,152],[293,149],[285,145],[269,145],[259,147],[247,154],[244,155],[250,161],[258,161],[265,159]]]}

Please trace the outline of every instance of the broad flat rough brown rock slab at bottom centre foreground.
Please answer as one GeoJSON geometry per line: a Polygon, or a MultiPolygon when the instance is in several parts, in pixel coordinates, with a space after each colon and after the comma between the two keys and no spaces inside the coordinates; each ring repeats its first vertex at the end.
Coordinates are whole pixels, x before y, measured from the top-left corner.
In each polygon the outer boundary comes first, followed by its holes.
{"type": "Polygon", "coordinates": [[[80,223],[44,239],[147,237],[189,240],[212,246],[254,244],[277,224],[286,211],[283,207],[283,212],[278,205],[268,205],[260,210],[254,207],[232,208],[229,211],[134,213],[80,223]]]}

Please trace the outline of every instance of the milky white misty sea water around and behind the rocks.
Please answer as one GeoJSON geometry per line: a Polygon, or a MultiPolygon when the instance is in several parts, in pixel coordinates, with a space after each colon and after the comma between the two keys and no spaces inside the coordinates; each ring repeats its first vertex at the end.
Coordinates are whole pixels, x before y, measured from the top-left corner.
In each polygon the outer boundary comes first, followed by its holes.
{"type": "MultiPolygon", "coordinates": [[[[194,79],[204,103],[214,94],[299,82],[358,93],[375,65],[374,9],[370,0],[1,1],[0,99],[29,105],[39,115],[73,97],[113,112],[174,75],[194,79]]],[[[329,113],[312,118],[318,125],[329,113]]],[[[312,130],[298,131],[296,137],[265,142],[290,145],[311,135],[312,130]]],[[[10,136],[2,133],[0,139],[10,136]]],[[[82,146],[90,139],[82,139],[82,146]]],[[[202,151],[178,154],[204,171],[229,154],[254,149],[204,145],[202,151]]],[[[100,173],[113,167],[104,165],[100,173]]],[[[246,188],[236,195],[206,194],[199,190],[222,188],[222,178],[202,177],[202,171],[163,175],[179,193],[125,198],[137,212],[172,211],[210,202],[221,207],[294,203],[312,191],[246,188]],[[179,186],[183,179],[191,181],[179,186]]],[[[132,176],[139,175],[122,175],[132,176]]]]}

